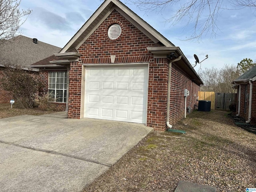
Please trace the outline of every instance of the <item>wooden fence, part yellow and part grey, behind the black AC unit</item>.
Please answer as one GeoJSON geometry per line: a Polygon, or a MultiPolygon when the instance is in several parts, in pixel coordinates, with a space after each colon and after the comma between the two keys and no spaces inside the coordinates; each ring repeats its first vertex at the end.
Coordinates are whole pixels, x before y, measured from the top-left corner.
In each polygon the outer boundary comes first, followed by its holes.
{"type": "Polygon", "coordinates": [[[198,100],[211,101],[211,110],[229,111],[231,104],[236,104],[236,93],[198,92],[198,100]]]}

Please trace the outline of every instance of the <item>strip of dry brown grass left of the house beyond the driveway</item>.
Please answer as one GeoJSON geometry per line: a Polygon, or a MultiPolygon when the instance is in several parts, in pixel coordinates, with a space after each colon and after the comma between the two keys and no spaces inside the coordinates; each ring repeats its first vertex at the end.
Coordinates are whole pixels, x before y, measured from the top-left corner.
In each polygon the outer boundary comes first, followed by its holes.
{"type": "Polygon", "coordinates": [[[12,105],[11,109],[11,104],[0,104],[0,119],[19,115],[42,115],[53,112],[57,111],[43,110],[40,108],[24,109],[15,103],[12,105]]]}

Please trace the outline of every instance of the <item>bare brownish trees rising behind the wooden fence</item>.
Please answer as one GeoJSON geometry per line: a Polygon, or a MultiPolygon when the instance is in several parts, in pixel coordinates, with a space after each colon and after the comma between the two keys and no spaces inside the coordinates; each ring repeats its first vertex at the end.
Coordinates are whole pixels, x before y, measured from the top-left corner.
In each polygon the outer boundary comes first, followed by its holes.
{"type": "Polygon", "coordinates": [[[223,68],[206,68],[200,74],[204,82],[202,91],[214,91],[222,93],[235,93],[231,82],[238,78],[239,71],[234,65],[225,65],[223,68]]]}

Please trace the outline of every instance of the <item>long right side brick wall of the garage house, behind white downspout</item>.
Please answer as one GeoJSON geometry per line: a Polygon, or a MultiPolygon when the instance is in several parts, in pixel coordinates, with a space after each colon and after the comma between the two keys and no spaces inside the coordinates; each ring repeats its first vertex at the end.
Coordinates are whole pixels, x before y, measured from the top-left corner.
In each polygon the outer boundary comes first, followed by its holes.
{"type": "Polygon", "coordinates": [[[186,107],[194,110],[197,103],[200,86],[192,82],[190,78],[175,64],[172,64],[171,87],[170,87],[170,124],[180,120],[185,115],[184,89],[188,89],[186,107]],[[196,94],[196,96],[194,96],[196,94]]]}

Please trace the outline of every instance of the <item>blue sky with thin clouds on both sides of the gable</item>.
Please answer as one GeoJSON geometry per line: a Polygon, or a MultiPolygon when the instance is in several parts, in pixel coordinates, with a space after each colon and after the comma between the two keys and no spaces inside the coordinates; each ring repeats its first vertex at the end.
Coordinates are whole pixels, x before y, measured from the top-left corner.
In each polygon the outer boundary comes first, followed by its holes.
{"type": "MultiPolygon", "coordinates": [[[[102,2],[102,0],[22,0],[21,9],[33,10],[21,27],[22,35],[62,48],[102,2]]],[[[122,2],[126,1],[122,0],[122,2]]],[[[186,22],[174,26],[164,22],[172,8],[166,8],[161,13],[145,13],[134,4],[125,4],[175,46],[179,46],[191,64],[195,61],[194,54],[199,60],[203,60],[208,54],[209,58],[202,62],[201,69],[212,66],[222,68],[224,64],[236,65],[243,58],[251,58],[256,62],[256,15],[250,8],[220,11],[217,21],[220,31],[217,36],[211,39],[208,34],[198,43],[184,41],[192,33],[191,25],[184,29],[186,22]]],[[[197,65],[195,70],[200,73],[200,65],[197,65]]]]}

